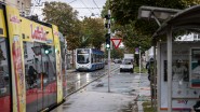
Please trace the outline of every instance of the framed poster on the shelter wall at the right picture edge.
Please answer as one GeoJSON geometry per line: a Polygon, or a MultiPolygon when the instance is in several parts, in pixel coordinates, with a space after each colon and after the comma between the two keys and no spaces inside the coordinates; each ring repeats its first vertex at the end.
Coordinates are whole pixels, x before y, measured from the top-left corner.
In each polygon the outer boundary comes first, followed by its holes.
{"type": "Polygon", "coordinates": [[[190,86],[200,88],[200,47],[190,50],[190,86]]]}

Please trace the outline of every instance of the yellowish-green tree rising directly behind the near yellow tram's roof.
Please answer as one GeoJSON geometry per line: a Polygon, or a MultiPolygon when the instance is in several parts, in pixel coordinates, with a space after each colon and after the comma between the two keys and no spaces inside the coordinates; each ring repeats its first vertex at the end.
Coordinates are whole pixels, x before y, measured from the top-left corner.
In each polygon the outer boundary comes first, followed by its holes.
{"type": "Polygon", "coordinates": [[[76,10],[67,3],[45,2],[43,15],[43,20],[58,26],[58,30],[66,37],[69,50],[80,46],[81,24],[76,10]]]}

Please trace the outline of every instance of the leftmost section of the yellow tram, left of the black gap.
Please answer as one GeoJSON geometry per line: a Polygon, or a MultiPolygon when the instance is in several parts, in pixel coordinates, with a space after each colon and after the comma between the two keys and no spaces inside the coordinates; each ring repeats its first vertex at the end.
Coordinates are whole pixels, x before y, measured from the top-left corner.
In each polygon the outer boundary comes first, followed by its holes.
{"type": "Polygon", "coordinates": [[[11,60],[3,10],[0,4],[0,112],[11,112],[11,60]]]}

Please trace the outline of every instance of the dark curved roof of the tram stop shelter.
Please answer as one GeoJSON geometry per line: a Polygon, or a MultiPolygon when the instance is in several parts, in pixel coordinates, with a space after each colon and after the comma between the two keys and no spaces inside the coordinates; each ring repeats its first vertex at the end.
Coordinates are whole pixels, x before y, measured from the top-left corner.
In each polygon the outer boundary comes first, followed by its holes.
{"type": "Polygon", "coordinates": [[[158,28],[152,38],[166,33],[169,28],[172,28],[172,31],[183,29],[200,32],[200,5],[194,5],[172,15],[158,28]]]}

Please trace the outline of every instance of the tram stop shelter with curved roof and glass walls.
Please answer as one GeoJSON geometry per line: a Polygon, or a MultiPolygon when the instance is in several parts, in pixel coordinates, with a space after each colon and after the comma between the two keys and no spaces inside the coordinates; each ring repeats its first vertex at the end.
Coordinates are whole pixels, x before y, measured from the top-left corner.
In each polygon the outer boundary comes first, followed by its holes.
{"type": "Polygon", "coordinates": [[[200,5],[170,15],[159,24],[157,41],[157,110],[190,112],[200,100],[200,41],[174,41],[177,36],[200,37],[200,5]],[[199,34],[198,34],[199,33],[199,34]]]}

